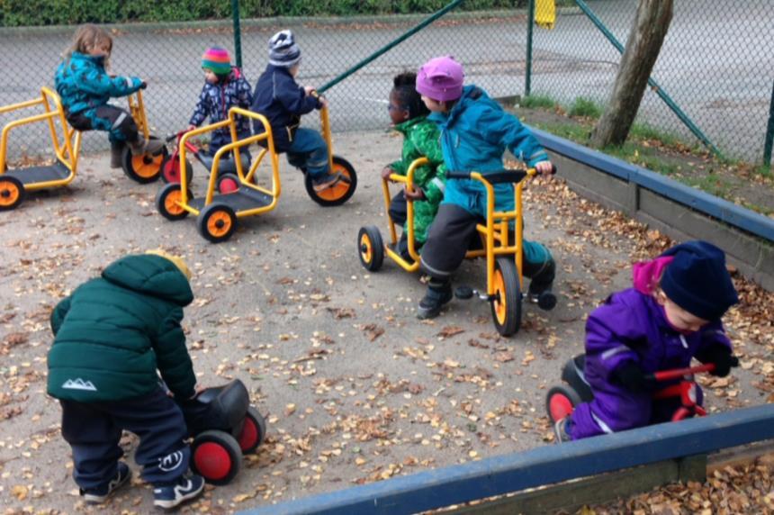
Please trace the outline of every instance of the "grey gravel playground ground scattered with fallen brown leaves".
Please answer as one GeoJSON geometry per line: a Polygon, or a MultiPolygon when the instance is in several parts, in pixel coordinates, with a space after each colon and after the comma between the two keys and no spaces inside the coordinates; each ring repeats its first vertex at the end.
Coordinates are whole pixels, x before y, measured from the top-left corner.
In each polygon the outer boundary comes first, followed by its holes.
{"type": "MultiPolygon", "coordinates": [[[[220,245],[201,239],[193,220],[162,219],[157,185],[109,170],[107,156],[83,157],[72,187],[2,213],[0,502],[7,512],[100,511],[77,495],[58,403],[45,395],[49,313],[112,260],[159,246],[194,271],[196,300],[184,328],[201,384],[240,378],[269,427],[235,481],[208,488],[184,512],[242,510],[553,440],[545,390],[564,360],[581,352],[585,314],[628,285],[632,260],[671,242],[578,198],[561,179],[538,182],[525,195],[527,235],[560,264],[557,308],[526,306],[513,339],[498,336],[483,303],[455,301],[437,321],[420,322],[419,277],[389,261],[366,273],[356,253],[362,225],[384,233],[378,172],[401,141],[363,132],[339,135],[336,146],[359,172],[349,203],[320,208],[283,164],[275,212],[243,220],[220,245]]],[[[201,191],[202,180],[194,186],[201,191]]],[[[482,268],[465,263],[458,282],[483,285],[482,268]]],[[[704,382],[712,411],[768,402],[774,377],[772,296],[741,278],[737,286],[743,304],[728,321],[743,366],[704,382]]],[[[136,445],[123,440],[129,455],[136,445]]],[[[148,484],[136,479],[105,510],[144,513],[151,502],[148,484]]]]}

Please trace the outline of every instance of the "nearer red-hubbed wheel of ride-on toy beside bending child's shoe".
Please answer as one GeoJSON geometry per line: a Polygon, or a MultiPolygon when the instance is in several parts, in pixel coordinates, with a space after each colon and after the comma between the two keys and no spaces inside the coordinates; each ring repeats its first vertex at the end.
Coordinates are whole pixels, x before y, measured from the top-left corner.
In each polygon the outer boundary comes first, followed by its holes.
{"type": "Polygon", "coordinates": [[[207,483],[228,484],[239,473],[242,453],[237,440],[224,431],[204,431],[191,444],[191,467],[207,483]]]}

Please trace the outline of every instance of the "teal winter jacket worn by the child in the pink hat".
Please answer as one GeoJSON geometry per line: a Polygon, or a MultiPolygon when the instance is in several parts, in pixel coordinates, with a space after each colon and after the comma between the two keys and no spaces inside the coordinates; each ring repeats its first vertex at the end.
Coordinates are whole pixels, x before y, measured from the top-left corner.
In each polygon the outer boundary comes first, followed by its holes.
{"type": "MultiPolygon", "coordinates": [[[[428,119],[441,130],[447,174],[459,171],[486,175],[500,171],[506,149],[529,167],[548,160],[532,132],[477,86],[465,86],[449,113],[431,113],[428,119]]],[[[512,211],[513,185],[495,185],[494,190],[495,210],[512,211]]],[[[447,178],[444,203],[454,203],[486,217],[486,190],[478,181],[447,178]]]]}

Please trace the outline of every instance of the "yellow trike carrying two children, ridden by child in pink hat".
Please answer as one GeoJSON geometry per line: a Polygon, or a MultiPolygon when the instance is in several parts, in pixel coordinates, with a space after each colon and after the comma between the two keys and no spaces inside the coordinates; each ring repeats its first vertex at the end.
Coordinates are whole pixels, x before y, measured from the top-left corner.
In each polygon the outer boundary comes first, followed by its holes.
{"type": "MultiPolygon", "coordinates": [[[[391,244],[385,245],[382,233],[375,226],[362,227],[357,235],[357,250],[361,264],[372,272],[382,267],[384,255],[395,261],[407,272],[419,270],[419,253],[414,243],[413,205],[407,199],[407,231],[409,255],[411,261],[401,257],[397,251],[398,235],[395,223],[390,218],[389,182],[406,185],[409,190],[414,188],[414,172],[417,167],[428,163],[427,158],[414,160],[406,176],[392,174],[389,179],[383,179],[384,202],[387,219],[390,226],[391,244]]],[[[553,173],[556,170],[554,168],[553,173]]],[[[484,223],[477,226],[482,239],[482,248],[468,250],[465,258],[485,258],[487,271],[486,290],[480,293],[468,286],[460,286],[455,290],[455,296],[461,299],[478,297],[491,305],[492,321],[502,336],[511,336],[518,332],[521,326],[522,285],[522,201],[521,192],[524,180],[537,174],[534,168],[528,170],[502,170],[489,172],[486,175],[479,172],[447,172],[446,179],[473,179],[482,183],[487,192],[487,217],[484,223]],[[494,187],[497,184],[514,185],[514,210],[496,212],[494,210],[494,187]]],[[[550,310],[556,304],[556,297],[551,292],[541,294],[538,305],[541,309],[550,310]]]]}

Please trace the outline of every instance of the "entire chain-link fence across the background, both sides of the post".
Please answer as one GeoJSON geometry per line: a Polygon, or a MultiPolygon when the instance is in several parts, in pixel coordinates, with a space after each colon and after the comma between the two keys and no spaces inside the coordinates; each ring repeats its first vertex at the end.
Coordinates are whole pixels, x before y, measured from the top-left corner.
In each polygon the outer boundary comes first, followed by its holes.
{"type": "MultiPolygon", "coordinates": [[[[591,10],[626,44],[637,3],[590,0],[591,10]]],[[[760,162],[774,77],[774,0],[675,2],[671,29],[653,77],[725,154],[760,162]]],[[[302,49],[299,82],[321,86],[381,49],[425,16],[243,21],[243,71],[255,85],[267,62],[267,40],[290,28],[302,49]]],[[[39,95],[52,85],[62,51],[75,31],[0,29],[0,104],[39,95]]],[[[184,128],[203,84],[202,51],[233,52],[230,22],[121,25],[114,36],[112,70],[148,81],[148,119],[158,134],[184,128]]],[[[571,104],[579,97],[603,104],[620,53],[577,7],[558,10],[554,30],[534,33],[532,93],[571,104]]],[[[466,79],[494,96],[523,95],[527,11],[447,14],[328,92],[334,131],[386,129],[392,76],[425,60],[451,54],[466,79]]],[[[122,101],[117,101],[121,103],[122,101]]],[[[0,115],[0,124],[9,116],[0,115]]],[[[677,116],[649,90],[640,120],[692,140],[677,116]]],[[[315,124],[314,116],[306,123],[315,124]]],[[[45,125],[14,130],[11,155],[40,155],[49,146],[45,125]]],[[[87,134],[85,149],[105,149],[103,134],[87,134]]]]}

